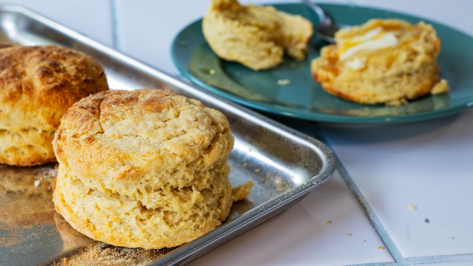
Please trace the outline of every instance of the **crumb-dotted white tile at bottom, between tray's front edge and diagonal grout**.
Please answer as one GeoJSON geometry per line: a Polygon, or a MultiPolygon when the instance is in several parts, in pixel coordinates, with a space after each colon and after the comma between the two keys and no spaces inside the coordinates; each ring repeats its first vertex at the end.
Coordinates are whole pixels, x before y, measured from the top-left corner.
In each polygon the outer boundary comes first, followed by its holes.
{"type": "Polygon", "coordinates": [[[302,202],[189,265],[336,266],[393,261],[380,246],[383,242],[335,173],[302,202]]]}

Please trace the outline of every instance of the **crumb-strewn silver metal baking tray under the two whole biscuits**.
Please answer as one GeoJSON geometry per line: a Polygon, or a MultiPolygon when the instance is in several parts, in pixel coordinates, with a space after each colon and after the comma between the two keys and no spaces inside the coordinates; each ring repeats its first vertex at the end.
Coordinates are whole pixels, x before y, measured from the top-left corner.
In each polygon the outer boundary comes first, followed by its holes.
{"type": "Polygon", "coordinates": [[[235,148],[230,181],[256,182],[216,229],[177,248],[122,248],[81,235],[55,213],[54,164],[0,165],[0,265],[180,265],[235,238],[300,201],[334,171],[332,152],[321,142],[254,111],[150,68],[19,6],[0,5],[0,41],[58,44],[82,51],[105,67],[111,89],[158,88],[201,100],[230,121],[235,148]],[[40,180],[38,187],[35,180],[40,180]]]}

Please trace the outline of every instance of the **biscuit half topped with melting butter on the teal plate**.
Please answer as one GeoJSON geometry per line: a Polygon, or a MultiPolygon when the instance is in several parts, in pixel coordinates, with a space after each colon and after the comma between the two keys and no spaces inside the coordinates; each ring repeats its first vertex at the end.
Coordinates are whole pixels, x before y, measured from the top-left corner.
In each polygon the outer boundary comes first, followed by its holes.
{"type": "Polygon", "coordinates": [[[395,106],[448,91],[447,81],[438,83],[440,40],[431,25],[371,19],[338,31],[335,41],[322,48],[311,71],[337,97],[395,106]]]}

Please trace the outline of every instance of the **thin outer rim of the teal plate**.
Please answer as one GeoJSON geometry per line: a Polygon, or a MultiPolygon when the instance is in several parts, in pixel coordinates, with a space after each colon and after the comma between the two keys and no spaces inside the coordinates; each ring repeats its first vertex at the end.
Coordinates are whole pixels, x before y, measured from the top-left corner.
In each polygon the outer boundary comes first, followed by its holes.
{"type": "MultiPolygon", "coordinates": [[[[278,6],[294,6],[294,5],[303,5],[302,3],[265,3],[263,5],[272,5],[275,7],[278,6]]],[[[350,5],[346,4],[332,4],[332,3],[320,3],[320,5],[323,6],[336,6],[336,7],[345,7],[345,8],[350,8],[350,5]]],[[[375,11],[381,11],[381,12],[391,12],[394,14],[399,14],[403,16],[408,16],[412,18],[417,18],[422,21],[427,21],[427,22],[433,22],[439,25],[442,25],[443,27],[447,27],[448,29],[452,31],[456,31],[458,33],[461,33],[463,35],[466,35],[470,38],[473,39],[473,36],[465,33],[462,30],[447,26],[443,23],[437,22],[432,19],[425,19],[422,17],[418,17],[415,15],[411,14],[406,14],[398,11],[392,11],[389,9],[378,9],[378,8],[371,8],[367,6],[357,6],[359,9],[365,9],[365,10],[375,10],[375,11]]],[[[463,104],[458,104],[456,106],[451,106],[445,109],[437,109],[437,110],[432,110],[432,111],[427,111],[427,112],[420,112],[420,113],[415,113],[415,114],[407,114],[407,115],[378,115],[378,116],[352,116],[352,115],[333,115],[333,114],[324,114],[324,113],[318,113],[318,112],[313,112],[313,113],[298,113],[298,112],[288,112],[285,110],[282,110],[280,107],[274,108],[267,106],[267,104],[260,103],[256,104],[250,101],[247,101],[243,98],[240,98],[238,96],[233,96],[230,93],[226,92],[224,89],[220,89],[218,87],[214,87],[212,85],[209,85],[205,83],[204,81],[198,79],[195,77],[190,71],[187,70],[187,66],[183,66],[178,62],[177,59],[177,51],[179,44],[179,37],[184,33],[184,31],[189,28],[189,27],[196,27],[196,24],[202,23],[202,18],[198,18],[194,20],[193,22],[187,24],[183,28],[179,30],[179,32],[174,36],[173,41],[171,43],[171,58],[172,61],[177,68],[177,70],[188,80],[190,80],[193,84],[199,86],[202,89],[211,91],[220,97],[226,98],[228,100],[231,100],[233,102],[236,102],[238,104],[241,104],[243,106],[252,108],[257,111],[263,111],[265,113],[273,114],[273,115],[282,115],[285,117],[292,117],[292,118],[298,118],[298,119],[303,119],[303,120],[308,120],[308,121],[314,121],[314,122],[324,122],[324,123],[334,123],[334,124],[395,124],[395,123],[409,123],[409,122],[417,122],[417,121],[424,121],[424,120],[430,120],[430,119],[435,119],[435,118],[440,118],[440,117],[445,117],[448,115],[454,115],[457,113],[460,113],[462,111],[467,110],[469,107],[473,106],[473,97],[469,99],[468,102],[465,102],[463,104]]],[[[473,89],[473,88],[472,88],[473,89]]]]}

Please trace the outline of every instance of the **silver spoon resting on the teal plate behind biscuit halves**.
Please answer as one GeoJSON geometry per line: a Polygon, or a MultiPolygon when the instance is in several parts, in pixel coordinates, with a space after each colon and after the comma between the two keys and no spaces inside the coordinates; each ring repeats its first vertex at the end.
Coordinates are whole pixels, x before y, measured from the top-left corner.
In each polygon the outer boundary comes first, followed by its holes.
{"type": "Polygon", "coordinates": [[[321,9],[318,5],[309,0],[301,0],[308,8],[317,14],[319,17],[320,25],[315,29],[315,34],[329,43],[335,43],[335,32],[344,27],[349,27],[345,24],[337,24],[332,18],[325,13],[324,9],[321,9]]]}

